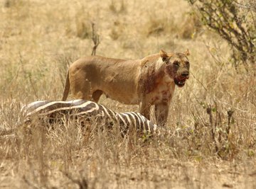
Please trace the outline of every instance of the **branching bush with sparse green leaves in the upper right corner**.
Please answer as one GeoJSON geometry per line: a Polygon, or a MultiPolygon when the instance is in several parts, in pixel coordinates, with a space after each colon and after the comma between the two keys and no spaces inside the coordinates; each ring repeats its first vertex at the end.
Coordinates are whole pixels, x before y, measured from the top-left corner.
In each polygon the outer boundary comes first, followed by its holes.
{"type": "Polygon", "coordinates": [[[213,29],[225,39],[233,51],[233,64],[242,63],[248,71],[255,65],[256,5],[231,0],[188,0],[196,8],[203,25],[213,29]]]}

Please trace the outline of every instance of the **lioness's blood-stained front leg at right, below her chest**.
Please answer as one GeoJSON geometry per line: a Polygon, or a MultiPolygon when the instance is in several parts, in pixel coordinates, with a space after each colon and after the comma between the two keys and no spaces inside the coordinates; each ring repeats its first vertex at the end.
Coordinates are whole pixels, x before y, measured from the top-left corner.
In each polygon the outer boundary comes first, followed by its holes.
{"type": "Polygon", "coordinates": [[[156,123],[159,126],[166,126],[168,113],[169,113],[169,103],[162,102],[155,105],[155,116],[156,123]]]}

